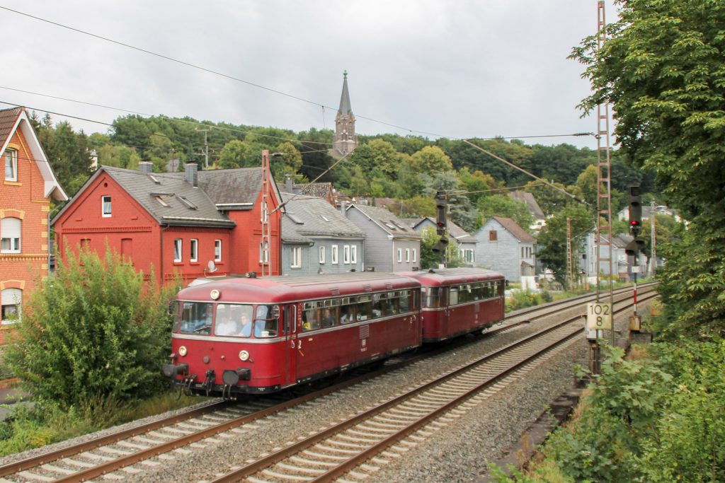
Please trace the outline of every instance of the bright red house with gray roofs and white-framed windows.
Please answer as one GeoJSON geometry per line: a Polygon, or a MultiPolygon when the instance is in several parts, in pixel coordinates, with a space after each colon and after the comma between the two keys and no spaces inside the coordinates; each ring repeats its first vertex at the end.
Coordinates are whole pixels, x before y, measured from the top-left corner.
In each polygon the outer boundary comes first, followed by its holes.
{"type": "Polygon", "coordinates": [[[100,167],[53,219],[59,255],[108,245],[157,280],[279,274],[281,197],[268,168],[100,167]],[[267,212],[264,213],[266,203],[267,212]]]}

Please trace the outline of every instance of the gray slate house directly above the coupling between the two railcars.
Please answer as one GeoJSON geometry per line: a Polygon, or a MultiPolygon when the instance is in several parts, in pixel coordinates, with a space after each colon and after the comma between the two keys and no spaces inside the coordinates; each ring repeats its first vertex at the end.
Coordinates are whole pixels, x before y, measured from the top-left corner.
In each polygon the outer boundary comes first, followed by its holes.
{"type": "Polygon", "coordinates": [[[354,204],[347,218],[365,232],[365,269],[408,272],[421,267],[421,235],[384,208],[354,204]]]}

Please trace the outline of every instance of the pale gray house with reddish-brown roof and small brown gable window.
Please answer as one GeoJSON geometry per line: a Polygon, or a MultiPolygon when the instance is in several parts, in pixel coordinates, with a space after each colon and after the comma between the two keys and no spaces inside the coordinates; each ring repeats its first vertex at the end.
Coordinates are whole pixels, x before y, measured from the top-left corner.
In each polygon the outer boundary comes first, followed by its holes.
{"type": "Polygon", "coordinates": [[[476,264],[501,272],[510,282],[521,282],[522,288],[534,288],[537,240],[513,219],[492,217],[473,234],[476,264]]]}

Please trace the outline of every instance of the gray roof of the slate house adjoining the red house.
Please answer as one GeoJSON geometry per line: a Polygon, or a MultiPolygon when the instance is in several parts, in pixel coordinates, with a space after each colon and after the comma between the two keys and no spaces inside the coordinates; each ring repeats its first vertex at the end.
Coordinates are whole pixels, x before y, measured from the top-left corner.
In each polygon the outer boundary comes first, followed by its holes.
{"type": "Polygon", "coordinates": [[[282,193],[286,213],[282,217],[282,240],[309,243],[312,238],[365,238],[360,228],[323,198],[282,193]]]}

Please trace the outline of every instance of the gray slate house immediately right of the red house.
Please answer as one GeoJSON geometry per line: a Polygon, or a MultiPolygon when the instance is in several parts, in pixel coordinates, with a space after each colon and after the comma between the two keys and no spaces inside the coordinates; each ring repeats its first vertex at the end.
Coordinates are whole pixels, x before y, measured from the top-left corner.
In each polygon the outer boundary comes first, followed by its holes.
{"type": "Polygon", "coordinates": [[[363,272],[365,233],[324,198],[282,193],[281,274],[363,272]]]}

